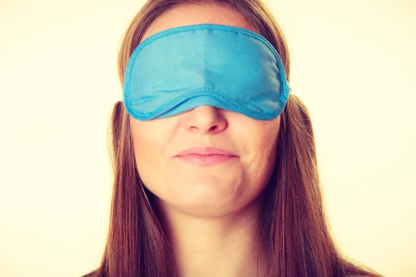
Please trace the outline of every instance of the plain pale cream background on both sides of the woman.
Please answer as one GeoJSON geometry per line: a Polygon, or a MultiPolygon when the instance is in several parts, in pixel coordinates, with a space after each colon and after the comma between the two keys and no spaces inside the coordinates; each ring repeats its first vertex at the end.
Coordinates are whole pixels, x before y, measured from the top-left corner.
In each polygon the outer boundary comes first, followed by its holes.
{"type": "MultiPolygon", "coordinates": [[[[385,276],[416,276],[415,1],[266,2],[311,112],[336,242],[385,276]]],[[[98,267],[116,53],[142,3],[0,0],[0,276],[98,267]]]]}

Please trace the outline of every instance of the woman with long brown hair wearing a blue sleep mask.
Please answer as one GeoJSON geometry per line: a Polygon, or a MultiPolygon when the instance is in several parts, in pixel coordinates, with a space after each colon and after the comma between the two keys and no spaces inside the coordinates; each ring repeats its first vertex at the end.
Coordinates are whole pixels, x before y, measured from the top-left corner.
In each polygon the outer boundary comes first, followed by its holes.
{"type": "Polygon", "coordinates": [[[110,231],[88,276],[381,276],[331,238],[309,112],[260,0],[149,0],[119,78],[110,231]]]}

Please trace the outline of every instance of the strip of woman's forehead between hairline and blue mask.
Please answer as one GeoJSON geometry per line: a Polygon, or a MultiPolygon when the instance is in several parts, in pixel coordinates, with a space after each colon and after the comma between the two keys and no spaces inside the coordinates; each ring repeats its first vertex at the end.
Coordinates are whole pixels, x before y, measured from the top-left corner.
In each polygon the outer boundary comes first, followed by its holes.
{"type": "Polygon", "coordinates": [[[195,24],[220,24],[259,31],[235,8],[225,5],[184,4],[164,12],[150,24],[141,41],[170,28],[195,24]]]}

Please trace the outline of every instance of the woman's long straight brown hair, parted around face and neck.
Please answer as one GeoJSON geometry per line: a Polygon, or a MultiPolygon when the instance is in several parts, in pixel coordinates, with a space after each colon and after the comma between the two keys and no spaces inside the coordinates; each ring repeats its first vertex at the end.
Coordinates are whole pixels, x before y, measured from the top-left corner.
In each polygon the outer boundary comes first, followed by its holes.
{"type": "MultiPolygon", "coordinates": [[[[132,19],[121,44],[121,84],[128,59],[148,26],[166,10],[189,3],[216,3],[239,10],[275,46],[289,80],[286,40],[261,0],[148,0],[132,19]]],[[[137,173],[128,119],[123,103],[117,102],[109,129],[114,170],[110,230],[101,265],[90,276],[172,276],[168,265],[173,251],[153,207],[152,193],[137,173]]],[[[297,96],[289,96],[280,128],[275,171],[265,190],[259,226],[260,247],[267,258],[262,269],[265,276],[381,276],[345,258],[331,238],[311,118],[297,96]]]]}

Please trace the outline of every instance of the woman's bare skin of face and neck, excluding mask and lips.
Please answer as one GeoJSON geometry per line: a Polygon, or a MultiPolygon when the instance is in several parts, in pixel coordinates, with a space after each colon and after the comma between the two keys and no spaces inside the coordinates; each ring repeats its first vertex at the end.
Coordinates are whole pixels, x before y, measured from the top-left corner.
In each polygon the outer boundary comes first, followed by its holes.
{"type": "MultiPolygon", "coordinates": [[[[142,41],[168,28],[204,23],[259,33],[231,7],[186,5],[157,18],[142,41]]],[[[148,121],[130,116],[137,169],[168,226],[177,276],[260,274],[255,228],[275,166],[279,126],[280,116],[255,120],[211,106],[148,121]],[[174,158],[195,146],[222,148],[237,157],[214,166],[174,158]]]]}

